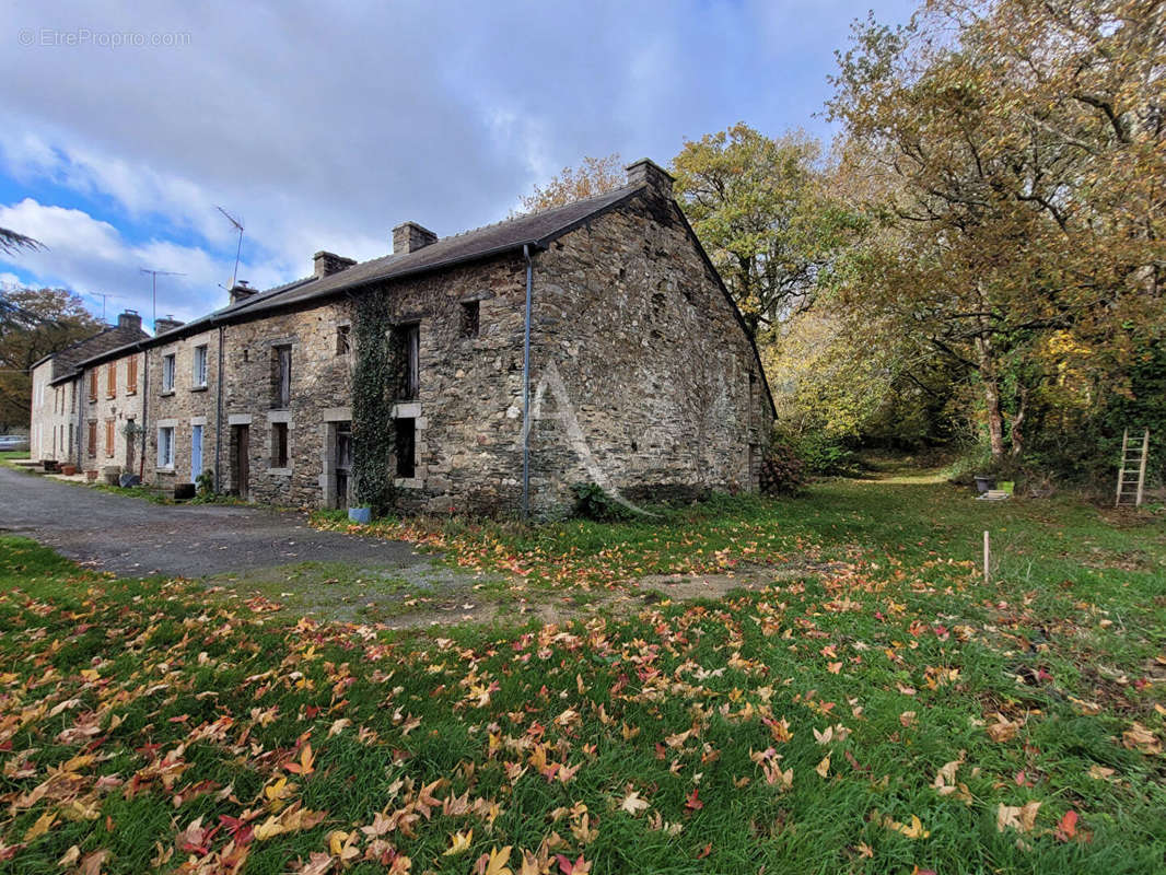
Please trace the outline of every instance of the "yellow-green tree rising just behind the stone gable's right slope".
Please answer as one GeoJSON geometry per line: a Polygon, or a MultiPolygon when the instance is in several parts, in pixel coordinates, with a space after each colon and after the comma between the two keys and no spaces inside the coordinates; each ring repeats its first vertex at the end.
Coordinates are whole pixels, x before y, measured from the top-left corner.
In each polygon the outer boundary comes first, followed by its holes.
{"type": "Polygon", "coordinates": [[[744,123],[689,140],[672,162],[676,198],[750,329],[813,300],[854,216],[821,187],[821,144],[744,123]]]}

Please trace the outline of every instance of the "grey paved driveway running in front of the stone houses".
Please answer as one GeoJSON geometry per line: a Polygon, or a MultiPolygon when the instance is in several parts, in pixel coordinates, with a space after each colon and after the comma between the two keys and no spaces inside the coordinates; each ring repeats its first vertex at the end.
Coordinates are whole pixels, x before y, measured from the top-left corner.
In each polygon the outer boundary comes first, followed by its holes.
{"type": "Polygon", "coordinates": [[[431,558],[408,544],[319,532],[292,511],[161,505],[0,466],[0,533],[121,575],[202,578],[294,562],[409,568],[431,558]]]}

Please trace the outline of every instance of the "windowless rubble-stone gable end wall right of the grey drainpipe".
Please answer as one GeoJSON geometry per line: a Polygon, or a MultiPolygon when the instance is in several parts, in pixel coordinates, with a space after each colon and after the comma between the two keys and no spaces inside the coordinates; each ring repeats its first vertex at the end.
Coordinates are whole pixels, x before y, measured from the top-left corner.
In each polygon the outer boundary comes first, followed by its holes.
{"type": "Polygon", "coordinates": [[[754,490],[760,365],[679,208],[648,190],[535,264],[532,506],[593,482],[631,501],[754,490]]]}

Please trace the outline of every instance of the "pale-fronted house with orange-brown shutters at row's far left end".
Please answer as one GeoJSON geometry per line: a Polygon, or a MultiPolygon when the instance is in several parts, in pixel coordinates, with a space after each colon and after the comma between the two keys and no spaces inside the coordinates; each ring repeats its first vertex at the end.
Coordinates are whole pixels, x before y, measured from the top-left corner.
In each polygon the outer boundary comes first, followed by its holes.
{"type": "MultiPolygon", "coordinates": [[[[118,316],[115,326],[45,356],[33,365],[29,430],[29,455],[33,459],[83,468],[124,463],[127,459],[125,436],[117,424],[127,414],[134,415],[131,410],[134,401],[131,399],[135,396],[135,376],[126,372],[129,365],[122,365],[120,371],[86,373],[83,363],[112,350],[118,350],[121,356],[127,344],[149,340],[141,326],[141,316],[127,310],[118,316]],[[112,429],[111,422],[114,424],[112,429]],[[91,439],[90,432],[94,429],[91,439]]],[[[139,368],[140,360],[139,355],[139,368]]]]}

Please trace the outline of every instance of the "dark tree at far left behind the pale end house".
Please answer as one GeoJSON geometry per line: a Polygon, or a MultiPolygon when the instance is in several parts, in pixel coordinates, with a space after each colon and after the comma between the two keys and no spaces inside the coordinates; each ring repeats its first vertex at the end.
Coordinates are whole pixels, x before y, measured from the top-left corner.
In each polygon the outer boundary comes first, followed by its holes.
{"type": "Polygon", "coordinates": [[[34,364],[103,328],[82,299],[64,289],[0,294],[0,427],[28,422],[34,364]]]}

